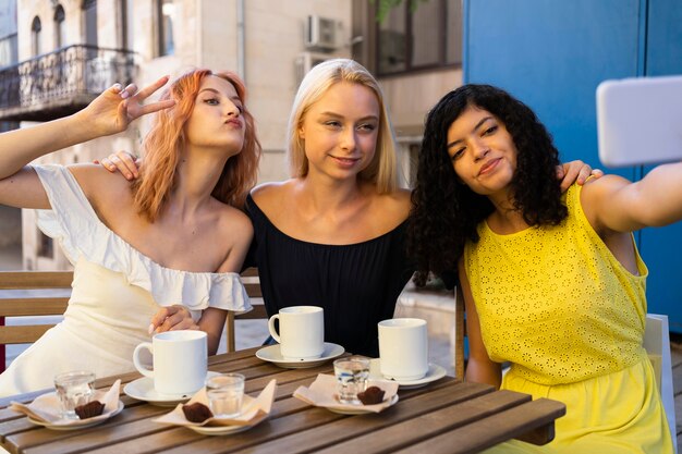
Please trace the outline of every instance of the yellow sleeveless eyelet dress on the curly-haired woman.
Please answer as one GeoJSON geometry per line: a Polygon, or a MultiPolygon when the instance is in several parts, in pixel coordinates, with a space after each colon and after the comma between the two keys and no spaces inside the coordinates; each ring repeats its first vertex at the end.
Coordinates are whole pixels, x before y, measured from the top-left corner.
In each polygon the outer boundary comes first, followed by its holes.
{"type": "Polygon", "coordinates": [[[510,361],[502,389],[563,402],[546,446],[495,452],[672,453],[656,379],[642,346],[648,270],[630,273],[594,231],[581,186],[558,226],[498,235],[486,222],[464,250],[490,358],[510,361]]]}

